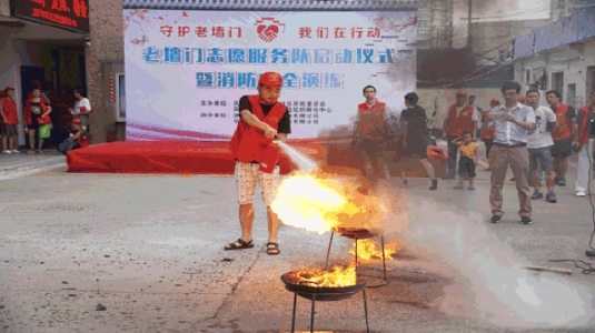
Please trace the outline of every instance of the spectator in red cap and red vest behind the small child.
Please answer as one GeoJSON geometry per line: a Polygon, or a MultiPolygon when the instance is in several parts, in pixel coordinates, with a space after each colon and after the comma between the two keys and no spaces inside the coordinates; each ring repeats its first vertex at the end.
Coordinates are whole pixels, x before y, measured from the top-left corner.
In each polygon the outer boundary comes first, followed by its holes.
{"type": "Polygon", "coordinates": [[[472,140],[477,138],[477,109],[467,103],[467,92],[459,90],[456,93],[456,103],[450,105],[443,125],[443,140],[448,140],[448,171],[446,179],[455,179],[457,168],[458,145],[453,141],[459,138],[463,132],[472,132],[472,140]]]}

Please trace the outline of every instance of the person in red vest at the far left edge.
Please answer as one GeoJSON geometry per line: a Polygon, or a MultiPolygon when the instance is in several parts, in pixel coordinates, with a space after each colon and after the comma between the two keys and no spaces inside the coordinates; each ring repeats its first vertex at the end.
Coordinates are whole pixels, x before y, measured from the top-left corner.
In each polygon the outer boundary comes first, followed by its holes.
{"type": "Polygon", "coordinates": [[[0,99],[0,121],[2,134],[2,153],[19,153],[17,150],[17,125],[19,124],[19,115],[17,111],[17,102],[14,102],[14,88],[4,88],[4,97],[0,99]]]}

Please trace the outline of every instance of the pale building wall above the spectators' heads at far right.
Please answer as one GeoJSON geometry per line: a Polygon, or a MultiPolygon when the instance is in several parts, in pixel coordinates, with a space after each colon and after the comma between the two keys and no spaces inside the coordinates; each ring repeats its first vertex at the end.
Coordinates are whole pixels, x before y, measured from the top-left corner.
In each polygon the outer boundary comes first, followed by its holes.
{"type": "MultiPolygon", "coordinates": [[[[587,68],[595,65],[595,41],[583,44],[564,47],[549,52],[543,52],[530,58],[519,59],[515,64],[515,80],[523,82],[524,91],[533,83],[533,74],[529,82],[526,80],[526,71],[535,71],[544,68],[547,74],[547,85],[545,90],[553,89],[553,74],[564,73],[563,102],[568,103],[568,84],[575,84],[576,97],[579,97],[581,104],[588,103],[592,92],[587,91],[587,68]]],[[[543,102],[543,101],[542,101],[543,102]]]]}

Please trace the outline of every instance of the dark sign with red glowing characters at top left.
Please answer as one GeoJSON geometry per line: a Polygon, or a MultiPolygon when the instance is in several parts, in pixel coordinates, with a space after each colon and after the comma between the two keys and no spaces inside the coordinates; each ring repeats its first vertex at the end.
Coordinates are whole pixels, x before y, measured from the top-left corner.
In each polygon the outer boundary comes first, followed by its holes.
{"type": "Polygon", "coordinates": [[[18,0],[14,16],[89,33],[89,0],[18,0]]]}

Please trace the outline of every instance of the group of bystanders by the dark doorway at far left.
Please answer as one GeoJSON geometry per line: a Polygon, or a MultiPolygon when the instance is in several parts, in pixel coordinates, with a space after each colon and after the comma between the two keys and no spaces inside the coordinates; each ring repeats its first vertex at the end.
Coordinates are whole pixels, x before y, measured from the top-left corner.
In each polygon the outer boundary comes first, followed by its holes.
{"type": "Polygon", "coordinates": [[[31,87],[23,99],[21,119],[16,89],[7,87],[0,92],[1,152],[20,153],[19,125],[22,125],[29,145],[27,153],[30,154],[43,153],[43,143],[65,154],[89,145],[89,114],[92,109],[82,90],[75,89],[70,94],[68,87],[62,85],[61,93],[57,94],[49,85],[42,87],[39,80],[33,80],[31,87]]]}

